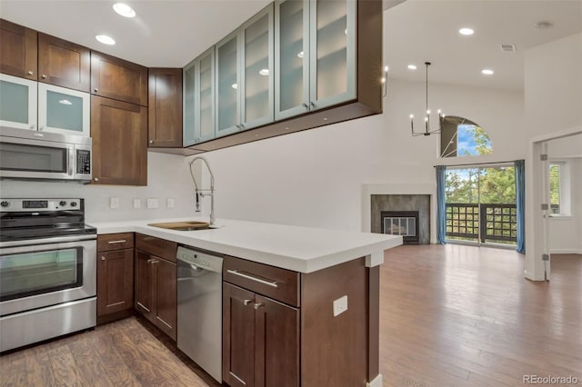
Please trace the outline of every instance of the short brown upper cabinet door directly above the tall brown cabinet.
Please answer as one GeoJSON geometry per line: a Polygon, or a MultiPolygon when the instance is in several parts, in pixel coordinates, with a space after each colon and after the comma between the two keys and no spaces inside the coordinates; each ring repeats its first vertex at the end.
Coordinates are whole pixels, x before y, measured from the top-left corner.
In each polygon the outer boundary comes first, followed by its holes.
{"type": "Polygon", "coordinates": [[[92,51],[91,93],[147,106],[147,67],[92,51]]]}

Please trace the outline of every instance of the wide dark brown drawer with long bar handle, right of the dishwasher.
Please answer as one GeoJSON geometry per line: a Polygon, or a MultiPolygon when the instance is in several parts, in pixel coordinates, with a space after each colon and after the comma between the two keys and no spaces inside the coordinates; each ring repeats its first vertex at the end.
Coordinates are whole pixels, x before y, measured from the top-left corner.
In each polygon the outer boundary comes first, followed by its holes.
{"type": "Polygon", "coordinates": [[[225,256],[223,281],[266,295],[281,303],[299,306],[299,273],[264,263],[225,256]]]}

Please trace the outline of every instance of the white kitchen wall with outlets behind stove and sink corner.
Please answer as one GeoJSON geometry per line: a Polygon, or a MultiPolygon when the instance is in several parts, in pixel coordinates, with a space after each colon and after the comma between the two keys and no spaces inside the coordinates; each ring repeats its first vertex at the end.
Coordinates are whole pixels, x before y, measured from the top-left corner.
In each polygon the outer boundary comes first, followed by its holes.
{"type": "Polygon", "coordinates": [[[170,154],[148,153],[146,187],[122,185],[83,185],[75,183],[21,182],[4,180],[2,197],[81,197],[85,198],[85,221],[106,222],[128,219],[182,217],[194,214],[194,185],[186,158],[170,154]],[[120,208],[109,208],[109,198],[116,196],[120,208]],[[158,209],[146,209],[146,198],[159,199],[158,209]],[[175,198],[175,208],[166,208],[166,199],[175,198]],[[142,200],[142,208],[133,208],[133,199],[142,200]]]}

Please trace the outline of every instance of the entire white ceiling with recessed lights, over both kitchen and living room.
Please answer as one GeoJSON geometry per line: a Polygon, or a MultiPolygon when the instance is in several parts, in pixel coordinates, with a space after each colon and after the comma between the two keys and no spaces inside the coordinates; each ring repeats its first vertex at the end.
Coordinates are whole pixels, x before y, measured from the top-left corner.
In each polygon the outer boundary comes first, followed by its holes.
{"type": "MultiPolygon", "coordinates": [[[[389,78],[523,89],[524,52],[582,31],[582,0],[384,0],[389,78]],[[400,4],[401,3],[401,4],[400,4]],[[547,30],[533,26],[553,24],[547,30]],[[476,30],[458,35],[461,26],[476,30]],[[500,44],[517,46],[504,53],[500,44]],[[410,72],[406,65],[418,65],[410,72]],[[496,74],[485,77],[484,67],[496,74]]],[[[270,3],[269,0],[0,0],[0,17],[148,67],[182,67],[270,3]],[[95,35],[112,35],[102,45],[95,35]]],[[[581,48],[582,49],[582,48],[581,48]]]]}

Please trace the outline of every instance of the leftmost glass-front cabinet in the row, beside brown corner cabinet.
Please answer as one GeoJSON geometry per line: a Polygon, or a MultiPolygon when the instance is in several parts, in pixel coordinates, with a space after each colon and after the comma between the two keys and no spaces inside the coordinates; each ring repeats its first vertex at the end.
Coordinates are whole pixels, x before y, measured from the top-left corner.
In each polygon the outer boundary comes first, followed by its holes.
{"type": "Polygon", "coordinates": [[[184,146],[215,138],[215,47],[184,69],[184,146]]]}

